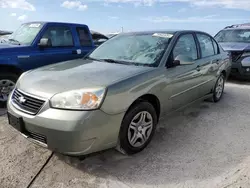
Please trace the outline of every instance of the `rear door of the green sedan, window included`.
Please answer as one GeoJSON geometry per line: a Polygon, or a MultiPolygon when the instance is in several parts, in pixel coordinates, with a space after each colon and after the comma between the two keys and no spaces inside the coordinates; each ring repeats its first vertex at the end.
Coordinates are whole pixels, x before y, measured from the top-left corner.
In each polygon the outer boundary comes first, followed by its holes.
{"type": "Polygon", "coordinates": [[[222,58],[218,44],[211,36],[205,33],[196,33],[196,36],[201,55],[197,61],[202,77],[199,93],[204,96],[211,93],[222,58]]]}

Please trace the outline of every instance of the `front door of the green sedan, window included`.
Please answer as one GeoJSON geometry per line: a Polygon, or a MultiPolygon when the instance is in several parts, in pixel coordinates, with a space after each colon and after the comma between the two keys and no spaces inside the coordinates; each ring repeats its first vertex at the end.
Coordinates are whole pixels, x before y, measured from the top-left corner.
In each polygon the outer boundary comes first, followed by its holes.
{"type": "Polygon", "coordinates": [[[169,83],[166,89],[171,91],[169,98],[171,110],[176,110],[199,98],[198,86],[201,83],[201,74],[197,64],[197,49],[193,33],[181,35],[173,48],[171,61],[178,55],[184,55],[192,59],[192,64],[169,67],[166,70],[169,83]]]}

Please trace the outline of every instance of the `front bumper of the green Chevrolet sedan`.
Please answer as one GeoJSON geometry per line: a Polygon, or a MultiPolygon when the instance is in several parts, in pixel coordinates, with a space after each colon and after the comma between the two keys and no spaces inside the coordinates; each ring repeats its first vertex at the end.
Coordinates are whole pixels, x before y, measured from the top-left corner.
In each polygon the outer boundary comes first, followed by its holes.
{"type": "Polygon", "coordinates": [[[101,110],[53,109],[48,102],[33,116],[15,108],[10,99],[7,109],[11,115],[22,118],[23,136],[52,151],[68,155],[85,155],[115,147],[124,116],[124,113],[108,115],[101,110]]]}

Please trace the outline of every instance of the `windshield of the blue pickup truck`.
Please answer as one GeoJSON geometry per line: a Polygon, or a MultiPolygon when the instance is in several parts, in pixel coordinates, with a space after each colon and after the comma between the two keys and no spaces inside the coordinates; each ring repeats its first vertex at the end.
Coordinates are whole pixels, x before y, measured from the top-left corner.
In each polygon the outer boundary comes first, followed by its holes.
{"type": "Polygon", "coordinates": [[[8,40],[14,44],[30,45],[42,26],[43,24],[41,23],[23,24],[9,36],[8,40]]]}

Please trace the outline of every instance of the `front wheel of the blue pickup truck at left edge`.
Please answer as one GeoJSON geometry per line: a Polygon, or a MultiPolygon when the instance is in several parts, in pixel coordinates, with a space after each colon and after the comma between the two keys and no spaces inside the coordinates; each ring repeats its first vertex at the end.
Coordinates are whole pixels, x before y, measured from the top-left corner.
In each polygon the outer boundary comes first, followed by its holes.
{"type": "Polygon", "coordinates": [[[15,87],[18,76],[14,73],[0,73],[0,107],[6,105],[9,94],[15,87]]]}

